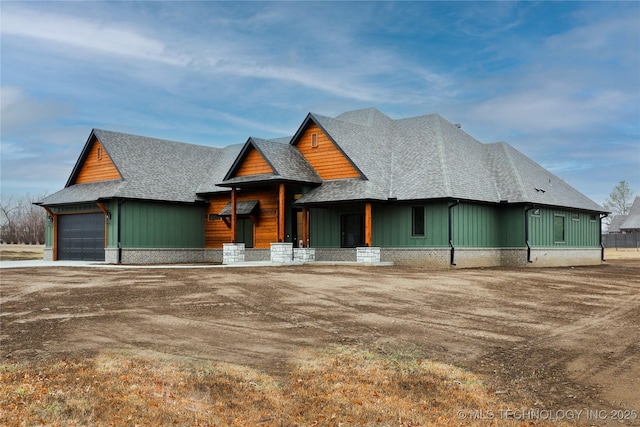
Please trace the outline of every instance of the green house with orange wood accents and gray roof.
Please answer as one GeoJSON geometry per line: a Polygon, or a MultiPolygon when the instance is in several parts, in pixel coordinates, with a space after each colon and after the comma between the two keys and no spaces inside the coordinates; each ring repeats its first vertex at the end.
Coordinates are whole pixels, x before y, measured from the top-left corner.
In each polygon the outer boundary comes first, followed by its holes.
{"type": "Polygon", "coordinates": [[[309,113],[292,137],[225,148],[94,129],[65,188],[39,204],[49,259],[110,263],[284,250],[433,267],[597,264],[605,213],[506,143],[375,108],[309,113]]]}

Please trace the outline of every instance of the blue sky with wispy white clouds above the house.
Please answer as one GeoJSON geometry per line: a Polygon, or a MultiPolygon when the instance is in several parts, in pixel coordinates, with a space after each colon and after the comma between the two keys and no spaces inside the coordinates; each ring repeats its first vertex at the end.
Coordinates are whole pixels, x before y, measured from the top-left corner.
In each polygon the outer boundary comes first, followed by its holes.
{"type": "Polygon", "coordinates": [[[61,189],[92,128],[225,146],[308,112],[439,113],[598,203],[640,195],[639,2],[13,2],[2,194],[61,189]]]}

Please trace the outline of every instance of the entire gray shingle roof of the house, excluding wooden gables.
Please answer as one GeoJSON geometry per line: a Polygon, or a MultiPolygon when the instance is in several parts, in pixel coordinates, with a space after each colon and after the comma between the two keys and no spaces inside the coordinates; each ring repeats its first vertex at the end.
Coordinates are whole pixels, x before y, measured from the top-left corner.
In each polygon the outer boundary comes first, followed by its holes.
{"type": "Polygon", "coordinates": [[[318,185],[298,200],[301,204],[447,198],[604,212],[510,145],[483,144],[437,114],[394,120],[375,108],[335,118],[310,113],[301,130],[293,139],[249,138],[243,145],[215,148],[94,129],[66,187],[41,203],[115,197],[194,202],[199,196],[227,192],[232,184],[300,182],[318,185]],[[336,143],[362,179],[322,181],[295,147],[310,121],[336,143]],[[122,180],[75,184],[92,138],[103,144],[122,180]],[[230,178],[251,147],[274,173],[230,178]]]}

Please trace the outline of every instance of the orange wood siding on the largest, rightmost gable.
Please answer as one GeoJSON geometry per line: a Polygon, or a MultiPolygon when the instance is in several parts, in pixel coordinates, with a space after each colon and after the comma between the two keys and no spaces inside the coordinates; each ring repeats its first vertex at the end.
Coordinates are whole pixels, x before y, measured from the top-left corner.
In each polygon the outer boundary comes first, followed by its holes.
{"type": "Polygon", "coordinates": [[[316,124],[311,124],[307,128],[296,147],[324,180],[360,178],[360,173],[349,159],[316,124]],[[317,141],[316,147],[312,144],[314,134],[317,141]]]}

